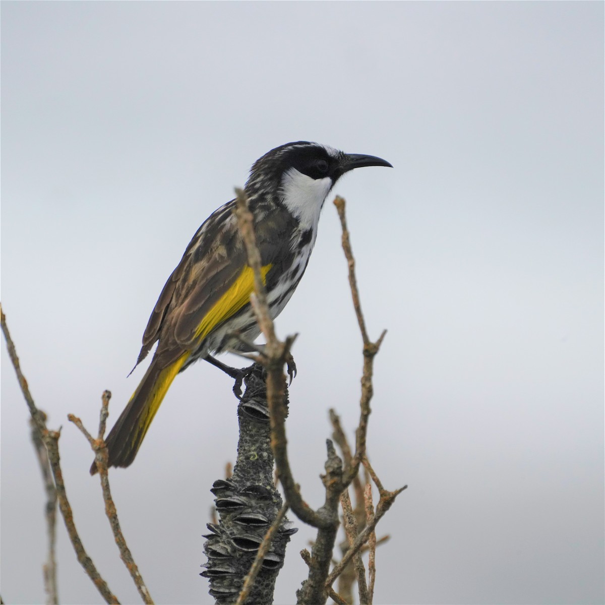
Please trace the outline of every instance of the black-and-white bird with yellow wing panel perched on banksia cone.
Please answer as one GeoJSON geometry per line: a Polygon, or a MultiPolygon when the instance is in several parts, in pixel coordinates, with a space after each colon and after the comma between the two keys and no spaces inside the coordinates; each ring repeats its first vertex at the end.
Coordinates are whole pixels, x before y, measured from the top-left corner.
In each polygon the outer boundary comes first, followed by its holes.
{"type": "MultiPolygon", "coordinates": [[[[273,318],[307,268],[327,195],[342,175],[364,166],[393,168],[374,155],[347,154],[308,141],[278,146],[253,163],[244,192],[273,318]]],[[[231,200],[204,221],[155,303],[135,368],[155,342],[157,348],[105,439],[108,466],[131,465],[175,376],[194,361],[205,359],[241,384],[235,368],[214,358],[225,351],[249,351],[244,342],[260,335],[250,306],[253,272],[234,208],[231,200]]],[[[96,472],[93,462],[90,473],[96,472]]]]}

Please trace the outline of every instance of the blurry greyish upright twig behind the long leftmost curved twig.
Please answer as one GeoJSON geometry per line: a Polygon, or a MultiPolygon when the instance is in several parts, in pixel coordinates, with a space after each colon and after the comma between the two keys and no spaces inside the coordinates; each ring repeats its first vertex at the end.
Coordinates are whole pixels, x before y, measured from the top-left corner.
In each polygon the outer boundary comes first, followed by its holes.
{"type": "MultiPolygon", "coordinates": [[[[42,419],[46,422],[47,416],[44,411],[39,410],[42,419]]],[[[48,535],[48,554],[47,561],[44,564],[44,591],[46,592],[47,605],[56,605],[59,603],[59,594],[57,591],[57,564],[55,559],[55,548],[57,538],[57,490],[54,488],[53,471],[50,468],[48,452],[44,445],[44,439],[36,422],[30,419],[31,440],[36,448],[36,456],[40,470],[42,471],[42,480],[44,481],[44,490],[46,492],[46,531],[48,535]]]]}

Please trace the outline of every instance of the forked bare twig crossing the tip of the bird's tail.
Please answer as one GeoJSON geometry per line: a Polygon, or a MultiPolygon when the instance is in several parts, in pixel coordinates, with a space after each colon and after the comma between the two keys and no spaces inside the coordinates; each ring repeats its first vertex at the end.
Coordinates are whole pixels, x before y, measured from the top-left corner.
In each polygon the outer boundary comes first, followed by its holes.
{"type": "Polygon", "coordinates": [[[126,545],[126,540],[124,538],[124,535],[122,534],[120,522],[117,518],[116,505],[114,504],[114,501],[111,497],[110,482],[107,472],[107,446],[103,441],[103,434],[105,433],[105,421],[108,415],[108,405],[110,399],[110,391],[103,391],[98,439],[94,439],[94,437],[91,436],[90,433],[88,433],[88,431],[82,425],[82,420],[80,420],[78,417],[74,416],[73,414],[68,414],[67,419],[70,420],[70,422],[73,422],[73,424],[75,424],[76,427],[80,429],[80,431],[87,438],[88,443],[90,443],[90,446],[94,451],[94,460],[97,465],[97,470],[99,471],[101,488],[103,491],[103,500],[105,500],[105,514],[107,515],[107,518],[110,521],[111,531],[113,531],[116,544],[120,551],[120,558],[122,559],[122,561],[124,561],[126,569],[128,569],[128,571],[130,572],[132,581],[134,581],[137,590],[139,590],[139,595],[143,599],[143,603],[152,604],[153,600],[151,598],[151,595],[149,594],[149,590],[145,586],[143,577],[139,572],[139,567],[134,562],[130,549],[128,548],[128,545],[126,545]]]}

